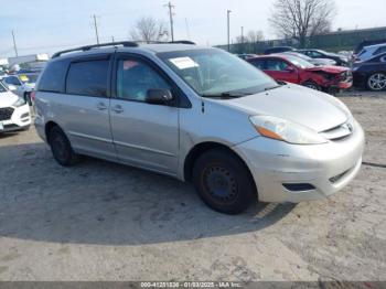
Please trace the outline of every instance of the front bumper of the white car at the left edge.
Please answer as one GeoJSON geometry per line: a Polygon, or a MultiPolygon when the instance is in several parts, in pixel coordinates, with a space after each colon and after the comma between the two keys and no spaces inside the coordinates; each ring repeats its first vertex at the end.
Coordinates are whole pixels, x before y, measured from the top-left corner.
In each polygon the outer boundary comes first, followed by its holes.
{"type": "Polygon", "coordinates": [[[0,120],[0,132],[23,130],[31,126],[30,106],[28,104],[12,108],[14,110],[11,117],[0,120]]]}

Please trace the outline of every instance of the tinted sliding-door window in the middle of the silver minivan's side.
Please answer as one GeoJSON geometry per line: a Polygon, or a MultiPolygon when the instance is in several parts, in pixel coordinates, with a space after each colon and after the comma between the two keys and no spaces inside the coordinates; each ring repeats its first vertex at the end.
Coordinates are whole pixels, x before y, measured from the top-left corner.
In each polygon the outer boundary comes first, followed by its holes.
{"type": "Polygon", "coordinates": [[[66,93],[107,96],[108,65],[108,60],[72,63],[66,81],[66,93]]]}

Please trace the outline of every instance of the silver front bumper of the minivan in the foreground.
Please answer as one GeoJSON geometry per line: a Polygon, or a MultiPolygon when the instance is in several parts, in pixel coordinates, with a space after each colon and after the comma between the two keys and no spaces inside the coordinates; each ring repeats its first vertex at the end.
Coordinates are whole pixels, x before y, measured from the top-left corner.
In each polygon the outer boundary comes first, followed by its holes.
{"type": "Polygon", "coordinates": [[[364,132],[354,121],[353,133],[343,140],[299,146],[257,137],[234,149],[249,167],[260,201],[298,203],[324,199],[355,178],[362,164],[364,132]],[[289,191],[283,184],[313,189],[289,191]]]}

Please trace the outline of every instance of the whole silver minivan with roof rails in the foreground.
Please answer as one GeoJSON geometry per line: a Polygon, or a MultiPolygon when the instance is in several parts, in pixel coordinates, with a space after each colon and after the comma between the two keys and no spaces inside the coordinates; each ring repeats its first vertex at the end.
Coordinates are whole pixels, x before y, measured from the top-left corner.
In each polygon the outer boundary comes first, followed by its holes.
{"type": "MultiPolygon", "coordinates": [[[[364,132],[336,98],[192,43],[58,52],[35,126],[62,165],[87,154],[192,181],[212,208],[326,197],[361,168],[364,132]]],[[[151,178],[149,175],[149,178],[151,178]]]]}

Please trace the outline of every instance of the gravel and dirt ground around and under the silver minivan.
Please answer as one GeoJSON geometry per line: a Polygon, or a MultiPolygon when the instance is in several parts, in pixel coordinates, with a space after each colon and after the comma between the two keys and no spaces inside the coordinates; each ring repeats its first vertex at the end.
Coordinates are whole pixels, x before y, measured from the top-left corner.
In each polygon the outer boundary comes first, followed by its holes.
{"type": "Polygon", "coordinates": [[[329,200],[226,216],[190,184],[0,136],[0,280],[385,280],[386,93],[346,93],[361,173],[329,200]]]}

